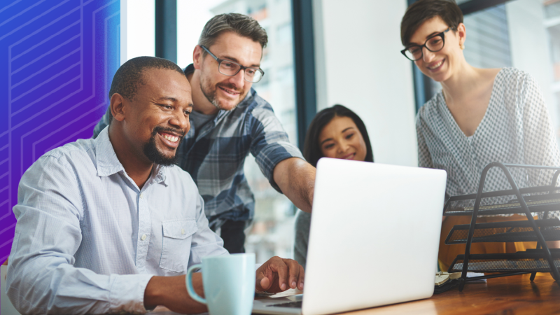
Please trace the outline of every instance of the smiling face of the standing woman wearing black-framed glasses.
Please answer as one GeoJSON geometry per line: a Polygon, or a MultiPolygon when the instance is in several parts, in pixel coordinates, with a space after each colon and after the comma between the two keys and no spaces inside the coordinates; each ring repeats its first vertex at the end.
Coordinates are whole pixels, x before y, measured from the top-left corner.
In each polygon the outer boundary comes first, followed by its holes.
{"type": "MultiPolygon", "coordinates": [[[[411,44],[423,45],[431,36],[445,31],[449,26],[442,18],[436,16],[431,18],[416,29],[410,38],[411,44]]],[[[423,57],[416,60],[414,64],[422,73],[437,82],[443,82],[456,73],[462,62],[465,62],[461,43],[465,41],[465,25],[459,24],[457,30],[449,30],[444,34],[444,46],[442,50],[431,52],[423,48],[423,57]]]]}

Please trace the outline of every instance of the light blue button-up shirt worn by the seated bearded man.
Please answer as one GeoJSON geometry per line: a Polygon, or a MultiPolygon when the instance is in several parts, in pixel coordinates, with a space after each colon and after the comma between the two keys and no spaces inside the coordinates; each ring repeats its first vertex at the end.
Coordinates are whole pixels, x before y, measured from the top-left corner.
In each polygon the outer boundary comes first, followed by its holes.
{"type": "Polygon", "coordinates": [[[155,165],[141,189],[109,128],[45,153],[20,181],[8,297],[25,314],[145,313],[153,275],[227,254],[187,172],[155,165]]]}

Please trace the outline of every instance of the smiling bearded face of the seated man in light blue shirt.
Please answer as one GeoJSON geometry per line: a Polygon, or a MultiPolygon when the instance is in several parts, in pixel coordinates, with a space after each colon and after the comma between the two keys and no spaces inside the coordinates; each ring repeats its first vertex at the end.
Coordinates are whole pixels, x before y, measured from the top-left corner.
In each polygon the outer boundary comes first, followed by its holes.
{"type": "Polygon", "coordinates": [[[190,84],[184,75],[169,69],[145,70],[142,82],[132,101],[123,98],[123,114],[115,119],[123,121],[125,138],[141,160],[172,165],[190,129],[190,84]]]}

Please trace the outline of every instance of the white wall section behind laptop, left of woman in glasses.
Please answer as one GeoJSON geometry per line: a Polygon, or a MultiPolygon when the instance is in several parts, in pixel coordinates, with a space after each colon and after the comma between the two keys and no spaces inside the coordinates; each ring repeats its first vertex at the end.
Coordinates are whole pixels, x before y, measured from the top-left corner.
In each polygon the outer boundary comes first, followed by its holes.
{"type": "Polygon", "coordinates": [[[416,166],[412,63],[400,54],[405,0],[314,0],[317,101],[365,123],[375,162],[416,166]]]}

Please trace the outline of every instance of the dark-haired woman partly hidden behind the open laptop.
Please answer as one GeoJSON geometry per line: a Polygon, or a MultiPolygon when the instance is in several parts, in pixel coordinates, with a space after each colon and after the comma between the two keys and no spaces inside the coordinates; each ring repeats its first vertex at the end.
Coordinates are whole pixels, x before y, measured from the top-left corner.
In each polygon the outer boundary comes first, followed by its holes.
{"type": "MultiPolygon", "coordinates": [[[[311,120],[305,136],[303,156],[314,167],[323,157],[373,162],[370,137],[363,121],[342,105],[323,109],[311,120]]],[[[294,258],[305,268],[311,214],[297,212],[294,258]]]]}

